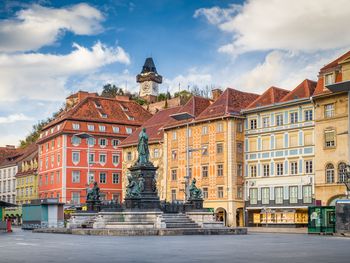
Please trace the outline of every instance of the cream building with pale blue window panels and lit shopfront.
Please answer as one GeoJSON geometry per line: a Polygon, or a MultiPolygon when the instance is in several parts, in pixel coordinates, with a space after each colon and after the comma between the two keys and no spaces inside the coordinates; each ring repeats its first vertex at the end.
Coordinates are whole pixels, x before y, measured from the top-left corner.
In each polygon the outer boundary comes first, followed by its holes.
{"type": "Polygon", "coordinates": [[[247,226],[307,225],[314,204],[316,82],[269,88],[243,110],[247,226]]]}

